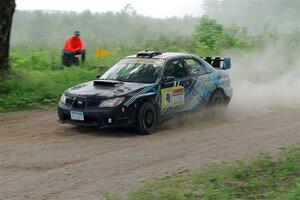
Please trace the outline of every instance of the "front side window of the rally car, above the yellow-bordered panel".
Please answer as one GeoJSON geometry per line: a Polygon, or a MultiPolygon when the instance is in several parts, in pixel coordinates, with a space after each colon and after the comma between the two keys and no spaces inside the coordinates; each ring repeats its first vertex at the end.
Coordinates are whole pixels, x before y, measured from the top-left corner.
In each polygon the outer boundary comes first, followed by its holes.
{"type": "Polygon", "coordinates": [[[168,63],[164,76],[174,76],[175,78],[183,78],[188,75],[187,66],[181,60],[174,60],[168,63]]]}

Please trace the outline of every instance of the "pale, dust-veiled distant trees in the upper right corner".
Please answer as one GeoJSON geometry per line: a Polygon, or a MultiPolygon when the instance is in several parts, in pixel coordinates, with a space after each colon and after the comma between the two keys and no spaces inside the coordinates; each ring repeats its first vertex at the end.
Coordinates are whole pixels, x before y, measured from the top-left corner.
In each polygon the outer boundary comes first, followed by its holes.
{"type": "Polygon", "coordinates": [[[204,0],[204,14],[225,26],[238,24],[252,33],[299,27],[299,0],[204,0]]]}

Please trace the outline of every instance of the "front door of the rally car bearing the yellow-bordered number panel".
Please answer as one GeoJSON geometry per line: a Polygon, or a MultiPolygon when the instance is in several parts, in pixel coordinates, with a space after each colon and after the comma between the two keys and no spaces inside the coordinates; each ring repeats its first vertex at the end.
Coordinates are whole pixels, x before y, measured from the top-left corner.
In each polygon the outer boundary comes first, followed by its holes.
{"type": "Polygon", "coordinates": [[[184,58],[167,62],[161,83],[162,114],[176,113],[185,110],[186,92],[192,83],[192,77],[184,58]]]}

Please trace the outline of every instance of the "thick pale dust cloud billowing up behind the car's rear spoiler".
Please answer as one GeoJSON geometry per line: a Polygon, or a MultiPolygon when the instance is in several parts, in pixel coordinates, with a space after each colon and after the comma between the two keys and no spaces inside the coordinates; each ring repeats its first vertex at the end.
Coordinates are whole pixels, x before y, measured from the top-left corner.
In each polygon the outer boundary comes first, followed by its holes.
{"type": "Polygon", "coordinates": [[[229,109],[257,114],[299,108],[300,62],[290,54],[287,45],[278,42],[259,52],[233,55],[230,75],[234,95],[229,109]]]}

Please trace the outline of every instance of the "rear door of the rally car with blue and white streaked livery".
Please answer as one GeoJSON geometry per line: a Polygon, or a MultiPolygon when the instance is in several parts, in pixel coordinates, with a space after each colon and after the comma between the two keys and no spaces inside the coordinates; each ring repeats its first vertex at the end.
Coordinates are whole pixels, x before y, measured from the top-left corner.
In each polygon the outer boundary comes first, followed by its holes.
{"type": "Polygon", "coordinates": [[[205,63],[195,57],[183,59],[188,66],[193,82],[186,94],[186,109],[191,110],[195,107],[207,105],[211,93],[215,89],[215,84],[210,75],[211,72],[205,67],[205,63]]]}

